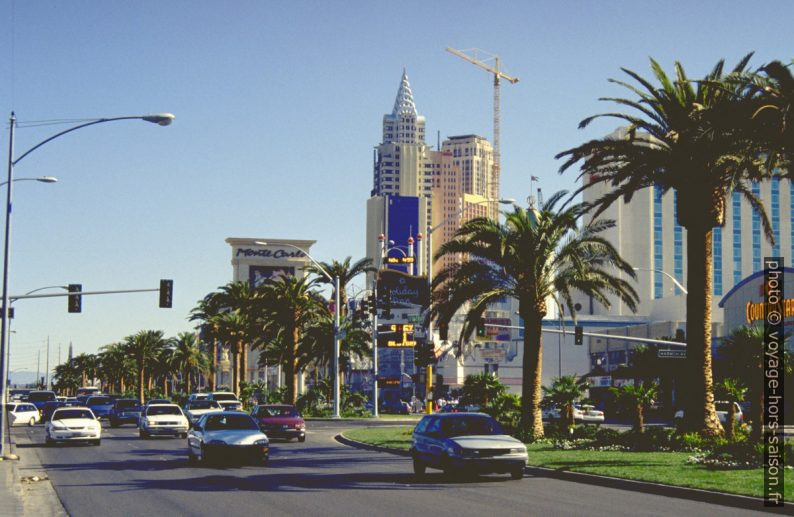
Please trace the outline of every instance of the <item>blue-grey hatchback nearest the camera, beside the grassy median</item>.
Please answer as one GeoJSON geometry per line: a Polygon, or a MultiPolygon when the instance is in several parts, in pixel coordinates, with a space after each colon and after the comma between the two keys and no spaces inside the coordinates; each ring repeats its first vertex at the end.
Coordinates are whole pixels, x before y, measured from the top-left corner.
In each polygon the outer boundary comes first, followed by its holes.
{"type": "Polygon", "coordinates": [[[431,467],[445,474],[510,473],[513,479],[524,477],[528,460],[526,446],[484,413],[425,416],[414,428],[411,457],[417,476],[431,467]]]}

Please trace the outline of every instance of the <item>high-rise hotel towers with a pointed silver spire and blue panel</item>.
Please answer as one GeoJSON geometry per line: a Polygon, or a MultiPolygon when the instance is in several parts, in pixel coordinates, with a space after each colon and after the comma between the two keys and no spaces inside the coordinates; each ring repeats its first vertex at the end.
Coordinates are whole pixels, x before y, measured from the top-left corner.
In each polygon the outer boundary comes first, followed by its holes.
{"type": "MultiPolygon", "coordinates": [[[[421,259],[414,271],[426,274],[430,257],[463,222],[498,216],[493,148],[477,135],[449,137],[440,150],[428,146],[425,118],[418,114],[404,70],[394,108],[383,116],[382,138],[375,150],[372,197],[367,202],[367,256],[380,265],[381,234],[397,247],[406,246],[412,237],[421,259]],[[415,217],[405,211],[413,205],[419,211],[415,217]],[[416,239],[431,228],[432,239],[416,239]]],[[[442,261],[433,270],[445,265],[442,261]]]]}

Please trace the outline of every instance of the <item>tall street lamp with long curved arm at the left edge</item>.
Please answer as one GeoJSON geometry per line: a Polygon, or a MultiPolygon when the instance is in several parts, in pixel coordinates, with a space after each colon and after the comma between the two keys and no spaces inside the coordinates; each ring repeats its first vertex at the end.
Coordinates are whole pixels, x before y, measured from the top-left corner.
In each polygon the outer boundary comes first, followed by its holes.
{"type": "MultiPolygon", "coordinates": [[[[5,365],[3,362],[5,361],[5,348],[6,343],[8,342],[8,258],[9,258],[9,244],[10,244],[10,237],[11,237],[11,199],[12,199],[12,186],[14,184],[14,166],[21,162],[27,155],[38,149],[39,147],[43,146],[44,144],[55,140],[67,133],[71,133],[72,131],[77,131],[78,129],[82,129],[84,127],[93,126],[95,124],[103,124],[105,122],[113,122],[116,120],[144,120],[146,122],[151,122],[153,124],[158,124],[160,126],[167,126],[171,122],[174,121],[174,115],[171,113],[158,113],[152,115],[137,115],[137,116],[127,116],[127,117],[111,117],[111,118],[99,118],[90,120],[83,124],[78,124],[77,126],[70,127],[69,129],[65,129],[60,133],[56,133],[49,138],[46,138],[39,142],[38,144],[34,145],[21,155],[19,155],[16,159],[14,158],[14,130],[17,126],[17,118],[14,112],[11,112],[11,117],[9,119],[9,136],[8,136],[8,178],[5,182],[6,186],[6,218],[5,218],[5,242],[3,246],[3,304],[2,304],[2,317],[0,317],[0,384],[2,385],[3,389],[0,393],[0,406],[5,407],[6,403],[6,379],[5,379],[5,365]]],[[[43,181],[45,183],[52,183],[53,181],[57,181],[50,176],[43,176],[42,179],[38,179],[37,181],[43,181]],[[44,179],[47,178],[47,179],[44,179]]],[[[5,454],[5,411],[0,411],[0,456],[5,454]]]]}

